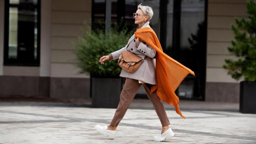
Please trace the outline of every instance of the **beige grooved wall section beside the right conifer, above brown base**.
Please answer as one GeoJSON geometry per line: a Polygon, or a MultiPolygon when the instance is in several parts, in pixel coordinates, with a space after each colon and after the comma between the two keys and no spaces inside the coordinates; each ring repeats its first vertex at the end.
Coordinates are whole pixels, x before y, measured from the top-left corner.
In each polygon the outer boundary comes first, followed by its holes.
{"type": "Polygon", "coordinates": [[[234,39],[230,24],[235,24],[235,17],[246,17],[246,0],[208,1],[206,82],[230,82],[230,76],[220,69],[225,58],[234,58],[227,48],[234,39]],[[219,75],[212,78],[209,72],[214,68],[219,75]]]}

